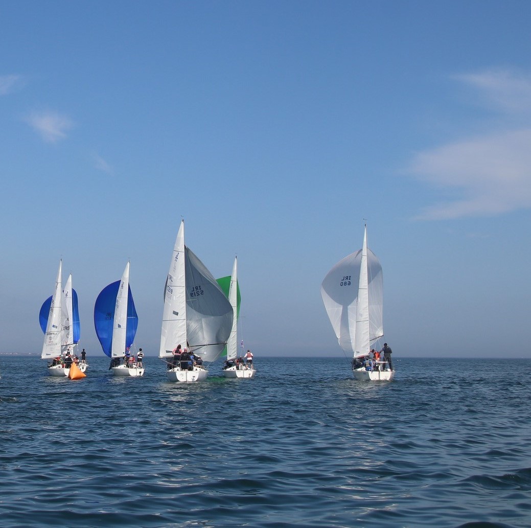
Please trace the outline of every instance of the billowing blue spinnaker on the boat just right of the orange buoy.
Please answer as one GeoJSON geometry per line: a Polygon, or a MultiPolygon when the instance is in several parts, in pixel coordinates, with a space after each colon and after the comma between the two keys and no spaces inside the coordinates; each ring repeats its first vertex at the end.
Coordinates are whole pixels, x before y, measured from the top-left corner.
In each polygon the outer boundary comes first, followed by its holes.
{"type": "MultiPolygon", "coordinates": [[[[102,289],[96,299],[96,304],[94,305],[94,326],[96,328],[96,335],[98,336],[101,348],[105,355],[109,357],[112,355],[114,310],[116,308],[116,295],[118,294],[120,283],[121,281],[117,280],[102,289]]],[[[133,344],[136,327],[138,327],[138,315],[136,314],[130,287],[127,293],[126,348],[129,348],[133,344]]],[[[120,352],[125,354],[125,350],[120,352]]]]}

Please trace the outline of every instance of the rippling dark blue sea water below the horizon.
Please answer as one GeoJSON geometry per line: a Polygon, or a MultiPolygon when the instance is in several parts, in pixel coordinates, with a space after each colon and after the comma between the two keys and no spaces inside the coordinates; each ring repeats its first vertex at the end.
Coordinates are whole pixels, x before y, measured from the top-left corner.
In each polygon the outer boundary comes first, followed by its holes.
{"type": "MultiPolygon", "coordinates": [[[[397,355],[397,354],[394,354],[397,355]]],[[[253,380],[0,356],[0,524],[531,526],[531,360],[256,358],[253,380]]]]}

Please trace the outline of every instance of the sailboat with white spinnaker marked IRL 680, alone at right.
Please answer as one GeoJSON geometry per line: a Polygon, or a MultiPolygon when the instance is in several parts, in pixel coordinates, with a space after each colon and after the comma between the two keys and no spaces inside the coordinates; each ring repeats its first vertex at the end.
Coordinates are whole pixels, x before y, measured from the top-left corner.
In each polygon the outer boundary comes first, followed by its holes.
{"type": "Polygon", "coordinates": [[[390,381],[395,371],[386,362],[370,359],[383,338],[383,276],[378,257],[367,247],[340,260],[324,277],[321,297],[339,346],[352,354],[357,380],[390,381]]]}

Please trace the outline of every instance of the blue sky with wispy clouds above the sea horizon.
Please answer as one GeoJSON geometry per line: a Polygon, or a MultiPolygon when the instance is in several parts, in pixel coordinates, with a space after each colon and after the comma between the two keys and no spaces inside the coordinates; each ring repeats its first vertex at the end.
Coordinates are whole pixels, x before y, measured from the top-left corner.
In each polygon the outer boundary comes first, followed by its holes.
{"type": "Polygon", "coordinates": [[[260,355],[341,355],[320,284],[363,241],[395,356],[529,357],[531,4],[8,2],[0,351],[40,353],[59,258],[81,344],[131,260],[158,352],[175,236],[238,256],[260,355]]]}

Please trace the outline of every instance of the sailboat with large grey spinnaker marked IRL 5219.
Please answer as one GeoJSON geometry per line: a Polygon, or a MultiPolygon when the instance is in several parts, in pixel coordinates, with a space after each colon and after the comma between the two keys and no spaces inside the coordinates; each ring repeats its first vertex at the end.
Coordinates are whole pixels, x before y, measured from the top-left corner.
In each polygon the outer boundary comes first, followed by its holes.
{"type": "Polygon", "coordinates": [[[233,308],[216,279],[184,244],[184,220],[179,226],[164,294],[159,357],[166,361],[169,381],[206,379],[204,363],[215,361],[232,330],[233,308]],[[172,361],[181,345],[201,361],[172,361]],[[200,364],[198,364],[200,363],[200,364]]]}

